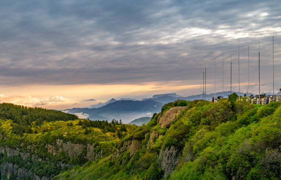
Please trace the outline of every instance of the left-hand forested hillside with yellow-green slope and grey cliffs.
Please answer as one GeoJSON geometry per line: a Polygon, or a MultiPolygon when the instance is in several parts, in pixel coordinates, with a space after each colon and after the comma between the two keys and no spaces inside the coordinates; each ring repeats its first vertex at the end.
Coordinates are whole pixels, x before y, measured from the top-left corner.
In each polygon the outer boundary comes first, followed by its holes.
{"type": "Polygon", "coordinates": [[[11,103],[0,104],[0,118],[0,179],[51,179],[112,154],[136,127],[11,103]]]}

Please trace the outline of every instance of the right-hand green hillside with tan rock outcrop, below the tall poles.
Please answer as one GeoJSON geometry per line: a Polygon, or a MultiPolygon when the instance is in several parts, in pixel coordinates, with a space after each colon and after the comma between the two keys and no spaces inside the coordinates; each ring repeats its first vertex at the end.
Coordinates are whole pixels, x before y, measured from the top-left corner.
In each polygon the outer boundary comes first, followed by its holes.
{"type": "Polygon", "coordinates": [[[236,98],[165,104],[112,154],[54,179],[280,179],[281,103],[236,98]]]}

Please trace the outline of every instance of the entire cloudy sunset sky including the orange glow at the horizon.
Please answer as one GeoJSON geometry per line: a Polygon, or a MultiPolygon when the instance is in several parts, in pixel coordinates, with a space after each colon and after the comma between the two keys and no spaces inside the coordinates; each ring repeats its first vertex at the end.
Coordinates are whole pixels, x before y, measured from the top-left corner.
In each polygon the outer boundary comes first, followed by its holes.
{"type": "Polygon", "coordinates": [[[278,0],[1,0],[0,102],[65,109],[200,94],[205,67],[208,94],[230,90],[231,60],[232,90],[240,77],[246,92],[248,47],[249,91],[259,92],[260,52],[260,93],[273,91],[273,59],[276,93],[280,8],[278,0]]]}

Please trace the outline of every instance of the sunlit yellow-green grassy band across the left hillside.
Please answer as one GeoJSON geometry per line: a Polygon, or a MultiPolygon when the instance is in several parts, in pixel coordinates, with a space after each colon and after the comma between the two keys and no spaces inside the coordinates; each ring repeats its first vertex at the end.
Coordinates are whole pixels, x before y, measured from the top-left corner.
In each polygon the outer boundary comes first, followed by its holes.
{"type": "MultiPolygon", "coordinates": [[[[24,133],[23,136],[19,134],[12,133],[11,123],[12,120],[9,119],[0,119],[0,129],[2,133],[6,134],[7,140],[2,141],[1,144],[8,145],[10,147],[22,147],[22,145],[32,145],[37,144],[38,141],[46,143],[54,143],[56,139],[62,139],[63,141],[69,141],[72,143],[95,143],[95,142],[117,142],[119,138],[116,136],[116,133],[106,132],[103,133],[102,129],[96,127],[88,127],[91,129],[91,132],[85,134],[85,128],[82,128],[81,125],[76,125],[78,120],[70,121],[52,121],[46,122],[40,126],[32,127],[34,131],[38,133],[24,133]],[[67,123],[73,123],[73,126],[67,126],[67,123]],[[47,132],[43,132],[46,130],[47,132]],[[46,138],[49,139],[46,139],[46,138]],[[24,144],[22,144],[24,142],[24,144]]],[[[119,128],[120,125],[116,125],[119,128]]],[[[135,126],[127,125],[126,128],[128,131],[131,131],[135,126]]]]}

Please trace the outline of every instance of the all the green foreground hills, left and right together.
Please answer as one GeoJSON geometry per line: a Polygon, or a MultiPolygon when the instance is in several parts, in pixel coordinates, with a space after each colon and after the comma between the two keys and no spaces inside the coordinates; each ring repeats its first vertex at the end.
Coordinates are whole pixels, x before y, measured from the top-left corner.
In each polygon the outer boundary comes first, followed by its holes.
{"type": "Polygon", "coordinates": [[[176,100],[141,126],[2,103],[0,175],[279,179],[281,102],[260,105],[236,98],[233,93],[217,103],[176,100]]]}

